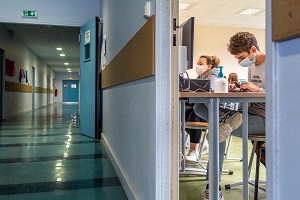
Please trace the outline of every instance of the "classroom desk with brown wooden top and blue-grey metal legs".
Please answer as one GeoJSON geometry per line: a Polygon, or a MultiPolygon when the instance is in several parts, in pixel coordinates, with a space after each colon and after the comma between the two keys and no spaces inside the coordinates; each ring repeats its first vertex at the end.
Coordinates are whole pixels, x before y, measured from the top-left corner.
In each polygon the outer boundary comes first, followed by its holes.
{"type": "MultiPolygon", "coordinates": [[[[219,199],[219,104],[226,102],[240,102],[243,111],[243,199],[249,200],[248,187],[248,103],[265,102],[264,92],[180,92],[180,100],[188,99],[190,103],[208,103],[209,121],[209,199],[219,199]]],[[[184,106],[183,103],[181,105],[184,106]]],[[[181,119],[185,119],[181,109],[181,119]],[[183,117],[183,118],[182,118],[183,117]]],[[[181,122],[181,131],[184,134],[185,123],[181,122]]],[[[223,155],[222,155],[223,156],[223,155]]]]}

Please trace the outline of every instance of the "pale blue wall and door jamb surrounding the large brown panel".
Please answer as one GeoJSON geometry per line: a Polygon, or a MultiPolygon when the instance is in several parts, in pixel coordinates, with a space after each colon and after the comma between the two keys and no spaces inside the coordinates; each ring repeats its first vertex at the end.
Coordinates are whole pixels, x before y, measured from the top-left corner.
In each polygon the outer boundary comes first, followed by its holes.
{"type": "MultiPolygon", "coordinates": [[[[103,1],[108,63],[146,22],[146,1],[103,1]]],[[[170,192],[170,2],[151,4],[156,76],[103,91],[103,138],[128,199],[169,199],[170,192]]]]}

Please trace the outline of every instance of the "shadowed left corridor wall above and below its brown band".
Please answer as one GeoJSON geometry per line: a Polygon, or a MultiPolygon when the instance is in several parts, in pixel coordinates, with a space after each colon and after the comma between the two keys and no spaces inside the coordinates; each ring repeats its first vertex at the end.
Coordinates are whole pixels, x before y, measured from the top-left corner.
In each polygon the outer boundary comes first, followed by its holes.
{"type": "MultiPolygon", "coordinates": [[[[25,79],[22,84],[32,86],[32,66],[35,67],[35,86],[47,88],[47,76],[53,77],[53,72],[40,60],[31,50],[29,50],[16,36],[9,37],[8,30],[0,25],[0,48],[5,50],[5,58],[15,61],[16,75],[5,76],[4,81],[19,82],[20,68],[28,71],[28,83],[25,79]]],[[[50,84],[51,86],[51,84],[50,84]]],[[[52,89],[52,87],[50,87],[52,89]]],[[[50,94],[50,100],[53,99],[50,94]]],[[[50,101],[49,103],[52,103],[50,101]]],[[[35,108],[47,105],[46,93],[35,93],[35,108]]],[[[3,94],[3,118],[9,118],[32,109],[32,93],[6,92],[3,94]]]]}

